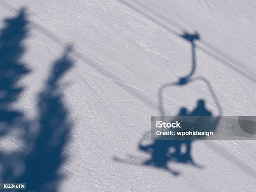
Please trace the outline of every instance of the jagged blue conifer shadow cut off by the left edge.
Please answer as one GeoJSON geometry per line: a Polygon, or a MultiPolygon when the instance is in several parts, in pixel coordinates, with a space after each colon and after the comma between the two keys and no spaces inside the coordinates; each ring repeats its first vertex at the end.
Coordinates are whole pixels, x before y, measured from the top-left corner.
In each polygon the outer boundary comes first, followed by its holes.
{"type": "Polygon", "coordinates": [[[25,52],[22,42],[28,36],[28,23],[26,9],[22,8],[14,18],[5,19],[5,27],[0,31],[0,137],[22,118],[22,113],[11,109],[11,105],[23,90],[17,83],[29,72],[20,61],[25,52]]]}

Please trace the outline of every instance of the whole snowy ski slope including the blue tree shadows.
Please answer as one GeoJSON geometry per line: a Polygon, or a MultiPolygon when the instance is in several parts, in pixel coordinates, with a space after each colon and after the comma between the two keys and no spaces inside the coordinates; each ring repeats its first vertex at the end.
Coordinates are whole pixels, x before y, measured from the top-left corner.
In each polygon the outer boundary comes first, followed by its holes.
{"type": "Polygon", "coordinates": [[[198,100],[256,115],[256,1],[0,0],[0,18],[0,183],[255,191],[256,141],[194,141],[194,164],[168,169],[143,165],[139,144],[151,115],[198,100]]]}

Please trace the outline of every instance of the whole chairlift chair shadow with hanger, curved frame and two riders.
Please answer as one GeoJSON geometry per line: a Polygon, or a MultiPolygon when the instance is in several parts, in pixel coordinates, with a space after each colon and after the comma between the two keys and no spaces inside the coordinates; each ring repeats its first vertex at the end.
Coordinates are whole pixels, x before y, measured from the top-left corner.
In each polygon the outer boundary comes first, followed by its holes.
{"type": "MultiPolygon", "coordinates": [[[[164,112],[164,96],[163,92],[166,88],[168,87],[175,87],[175,86],[184,86],[185,84],[190,84],[195,81],[202,81],[206,84],[206,87],[208,88],[215,105],[217,106],[219,110],[219,114],[222,113],[221,106],[218,102],[217,96],[215,95],[215,92],[212,89],[212,86],[210,82],[205,79],[205,77],[196,77],[192,78],[193,74],[195,73],[196,69],[196,54],[195,54],[195,49],[196,49],[196,40],[200,40],[200,36],[198,33],[194,34],[189,34],[187,32],[184,32],[184,34],[180,35],[182,38],[185,40],[189,41],[192,47],[192,69],[187,74],[185,77],[181,77],[178,82],[171,82],[171,83],[166,83],[163,84],[158,91],[158,99],[159,99],[159,112],[161,116],[166,115],[164,112]]],[[[179,110],[179,113],[177,116],[212,116],[212,113],[210,110],[207,110],[205,107],[205,100],[200,99],[197,101],[197,106],[192,110],[191,113],[188,112],[187,108],[182,107],[179,110]]],[[[212,117],[212,131],[214,131],[218,125],[218,120],[219,117],[212,117]]],[[[190,128],[189,128],[190,129],[190,128]]],[[[174,175],[178,175],[179,172],[174,171],[169,168],[168,163],[170,161],[176,161],[180,162],[183,164],[192,164],[194,166],[197,166],[201,168],[202,166],[198,165],[195,163],[195,161],[192,158],[191,155],[191,149],[192,149],[192,142],[190,137],[187,138],[178,138],[177,140],[155,140],[153,141],[152,144],[143,144],[143,139],[145,136],[142,138],[142,140],[139,143],[138,148],[146,153],[151,154],[151,159],[143,162],[144,165],[152,165],[155,167],[159,167],[162,169],[166,169],[169,172],[171,172],[174,175]],[[186,150],[182,150],[186,148],[186,150]]]]}

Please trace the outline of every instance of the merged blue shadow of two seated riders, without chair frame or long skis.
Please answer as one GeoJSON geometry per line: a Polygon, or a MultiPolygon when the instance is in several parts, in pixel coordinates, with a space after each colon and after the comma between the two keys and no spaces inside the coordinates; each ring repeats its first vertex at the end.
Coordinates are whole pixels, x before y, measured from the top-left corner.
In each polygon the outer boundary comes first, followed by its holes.
{"type": "MultiPolygon", "coordinates": [[[[212,113],[205,108],[205,101],[198,100],[196,108],[188,113],[187,108],[181,108],[177,116],[212,116],[212,113]]],[[[151,159],[145,161],[144,165],[156,166],[166,169],[172,174],[177,175],[178,172],[171,170],[168,167],[170,161],[177,161],[181,163],[190,163],[197,166],[191,156],[191,140],[155,140],[153,144],[143,146],[139,144],[139,149],[151,154],[151,159]],[[182,145],[185,146],[186,151],[183,152],[182,145]],[[170,149],[174,149],[170,152],[170,149]]]]}

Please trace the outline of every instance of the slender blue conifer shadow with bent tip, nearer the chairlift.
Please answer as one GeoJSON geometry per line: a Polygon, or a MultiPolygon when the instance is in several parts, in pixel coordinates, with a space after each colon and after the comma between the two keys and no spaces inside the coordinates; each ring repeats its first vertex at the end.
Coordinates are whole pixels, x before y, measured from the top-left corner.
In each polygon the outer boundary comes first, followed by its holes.
{"type": "Polygon", "coordinates": [[[59,79],[73,65],[72,59],[69,58],[71,51],[72,46],[68,46],[64,55],[54,62],[47,86],[39,94],[40,130],[38,136],[29,138],[33,141],[34,147],[24,157],[24,173],[15,181],[27,183],[29,191],[57,191],[58,184],[64,176],[59,169],[67,159],[64,147],[70,138],[72,122],[62,101],[59,79]]]}

